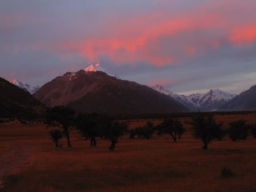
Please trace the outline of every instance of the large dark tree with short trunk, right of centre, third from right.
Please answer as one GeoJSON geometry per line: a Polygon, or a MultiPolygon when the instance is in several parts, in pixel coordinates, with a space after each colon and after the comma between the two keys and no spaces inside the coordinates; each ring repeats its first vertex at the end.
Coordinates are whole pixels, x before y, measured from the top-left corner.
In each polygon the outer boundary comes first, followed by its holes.
{"type": "Polygon", "coordinates": [[[192,129],[194,131],[194,137],[201,139],[203,142],[203,149],[207,150],[210,142],[214,139],[221,140],[224,136],[222,130],[222,123],[216,123],[212,116],[203,117],[198,116],[192,118],[192,129]]]}

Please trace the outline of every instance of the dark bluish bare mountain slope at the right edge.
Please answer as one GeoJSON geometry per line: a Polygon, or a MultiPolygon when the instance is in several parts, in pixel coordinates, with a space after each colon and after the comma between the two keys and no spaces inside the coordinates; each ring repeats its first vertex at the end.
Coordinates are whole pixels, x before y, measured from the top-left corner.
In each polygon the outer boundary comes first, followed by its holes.
{"type": "Polygon", "coordinates": [[[219,107],[219,111],[252,111],[256,110],[256,85],[240,93],[234,99],[219,107]]]}

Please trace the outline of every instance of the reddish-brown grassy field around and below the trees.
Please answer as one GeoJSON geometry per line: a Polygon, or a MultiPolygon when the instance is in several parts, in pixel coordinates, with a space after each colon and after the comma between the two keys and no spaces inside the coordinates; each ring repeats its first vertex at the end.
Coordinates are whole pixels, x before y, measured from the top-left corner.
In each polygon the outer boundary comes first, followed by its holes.
{"type": "MultiPolygon", "coordinates": [[[[256,115],[217,116],[225,127],[233,120],[256,123],[256,115]]],[[[186,123],[189,119],[184,118],[186,123]]],[[[130,128],[146,120],[130,120],[130,128]]],[[[154,120],[159,123],[159,120],[154,120]]],[[[212,142],[208,150],[189,126],[178,143],[170,137],[128,139],[110,152],[110,142],[89,146],[75,131],[72,148],[56,149],[40,124],[0,124],[0,191],[189,191],[255,192],[256,139],[212,142]],[[233,177],[220,177],[227,167],[233,177]]]]}

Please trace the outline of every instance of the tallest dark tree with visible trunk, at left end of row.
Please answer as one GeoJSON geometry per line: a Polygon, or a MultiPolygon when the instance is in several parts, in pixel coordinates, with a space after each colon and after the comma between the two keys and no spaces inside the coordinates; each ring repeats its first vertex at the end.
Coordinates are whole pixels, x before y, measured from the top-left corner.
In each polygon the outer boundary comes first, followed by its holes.
{"type": "Polygon", "coordinates": [[[67,139],[67,146],[71,147],[69,132],[75,126],[75,112],[73,110],[64,106],[48,108],[45,123],[47,124],[47,128],[61,128],[62,134],[67,139]]]}

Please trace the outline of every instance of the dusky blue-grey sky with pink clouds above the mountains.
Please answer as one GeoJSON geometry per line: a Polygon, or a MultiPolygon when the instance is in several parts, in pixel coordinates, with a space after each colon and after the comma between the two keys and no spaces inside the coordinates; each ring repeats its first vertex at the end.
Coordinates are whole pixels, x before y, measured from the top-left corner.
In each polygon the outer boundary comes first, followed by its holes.
{"type": "Polygon", "coordinates": [[[175,93],[256,85],[255,0],[1,0],[0,77],[43,85],[99,62],[175,93]]]}

